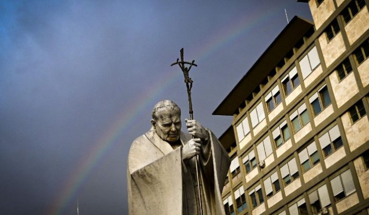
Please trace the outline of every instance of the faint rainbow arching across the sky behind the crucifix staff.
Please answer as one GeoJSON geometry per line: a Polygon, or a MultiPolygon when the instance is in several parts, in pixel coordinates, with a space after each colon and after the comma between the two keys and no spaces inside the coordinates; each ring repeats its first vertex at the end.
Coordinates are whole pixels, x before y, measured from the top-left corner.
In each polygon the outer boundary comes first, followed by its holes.
{"type": "MultiPolygon", "coordinates": [[[[283,8],[283,6],[282,6],[283,8]]],[[[251,14],[250,17],[239,17],[238,21],[233,26],[229,26],[226,29],[221,30],[218,34],[213,34],[211,38],[207,38],[207,42],[203,42],[201,46],[197,46],[198,49],[192,54],[193,58],[198,62],[199,60],[207,59],[212,53],[215,53],[218,49],[224,47],[229,42],[239,38],[245,32],[248,32],[254,27],[259,26],[260,23],[268,20],[270,16],[275,12],[280,12],[281,7],[270,8],[260,15],[257,12],[251,14]]],[[[176,68],[178,69],[178,68],[176,68]]],[[[62,186],[59,195],[53,201],[52,208],[46,212],[46,214],[60,214],[67,205],[75,198],[78,189],[81,187],[84,181],[91,174],[92,169],[104,158],[109,149],[111,149],[116,140],[123,136],[127,131],[129,125],[131,125],[134,119],[142,114],[149,105],[153,105],[157,101],[161,100],[159,95],[162,95],[163,90],[170,85],[173,80],[183,78],[181,73],[167,72],[167,75],[161,81],[155,83],[152,88],[144,93],[144,95],[136,98],[134,102],[131,102],[129,109],[122,111],[117,120],[112,124],[104,135],[96,141],[93,147],[88,153],[88,157],[82,158],[74,169],[71,177],[62,186]],[[127,111],[129,110],[129,111],[127,111]]]]}

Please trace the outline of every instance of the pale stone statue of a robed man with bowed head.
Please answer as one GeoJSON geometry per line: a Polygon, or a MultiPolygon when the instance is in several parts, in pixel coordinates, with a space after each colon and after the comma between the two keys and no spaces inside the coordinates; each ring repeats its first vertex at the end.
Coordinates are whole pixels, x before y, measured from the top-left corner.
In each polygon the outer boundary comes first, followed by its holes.
{"type": "Polygon", "coordinates": [[[230,158],[196,120],[186,119],[189,134],[181,132],[180,113],[173,101],[158,102],[150,131],[133,141],[127,165],[129,214],[199,214],[196,155],[203,214],[224,214],[221,192],[230,158]]]}

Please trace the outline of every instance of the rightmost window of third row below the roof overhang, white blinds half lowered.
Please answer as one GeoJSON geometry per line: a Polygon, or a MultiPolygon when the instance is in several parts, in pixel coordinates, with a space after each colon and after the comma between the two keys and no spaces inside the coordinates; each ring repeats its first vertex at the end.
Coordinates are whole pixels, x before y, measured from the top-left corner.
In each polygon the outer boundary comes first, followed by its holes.
{"type": "Polygon", "coordinates": [[[332,127],[328,132],[319,137],[320,146],[324,157],[331,155],[343,145],[338,125],[332,127]]]}

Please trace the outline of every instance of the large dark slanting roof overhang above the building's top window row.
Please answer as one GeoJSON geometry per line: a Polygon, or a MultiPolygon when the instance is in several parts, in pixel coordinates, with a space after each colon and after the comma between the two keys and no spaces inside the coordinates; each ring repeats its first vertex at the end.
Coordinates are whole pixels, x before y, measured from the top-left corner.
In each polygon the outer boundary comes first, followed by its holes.
{"type": "Polygon", "coordinates": [[[294,16],[227,97],[218,105],[213,115],[232,116],[241,103],[245,102],[246,98],[275,68],[277,63],[292,50],[295,44],[313,26],[313,23],[309,20],[294,16]]]}

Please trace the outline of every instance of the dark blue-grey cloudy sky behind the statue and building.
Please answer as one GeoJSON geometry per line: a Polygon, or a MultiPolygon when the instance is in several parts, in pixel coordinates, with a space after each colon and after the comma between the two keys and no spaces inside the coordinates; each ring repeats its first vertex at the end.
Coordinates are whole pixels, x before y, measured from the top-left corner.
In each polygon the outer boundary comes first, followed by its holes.
{"type": "Polygon", "coordinates": [[[126,214],[127,155],[171,99],[220,136],[212,112],[286,26],[295,0],[0,0],[0,213],[126,214]]]}

